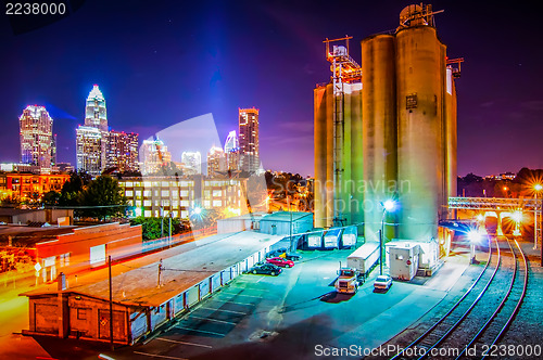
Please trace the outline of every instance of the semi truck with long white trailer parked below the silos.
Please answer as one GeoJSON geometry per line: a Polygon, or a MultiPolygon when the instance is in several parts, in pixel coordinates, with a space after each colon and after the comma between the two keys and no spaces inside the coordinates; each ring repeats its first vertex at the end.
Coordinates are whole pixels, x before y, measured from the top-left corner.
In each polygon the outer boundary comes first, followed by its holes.
{"type": "Polygon", "coordinates": [[[370,242],[355,249],[346,258],[346,267],[338,270],[336,291],[343,294],[355,294],[364,284],[367,275],[379,260],[379,243],[370,242]]]}

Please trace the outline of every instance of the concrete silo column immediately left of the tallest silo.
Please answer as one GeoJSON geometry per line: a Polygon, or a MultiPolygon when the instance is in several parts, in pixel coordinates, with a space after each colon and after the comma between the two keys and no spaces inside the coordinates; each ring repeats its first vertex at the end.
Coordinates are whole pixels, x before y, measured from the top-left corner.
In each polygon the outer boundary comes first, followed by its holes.
{"type": "MultiPolygon", "coordinates": [[[[397,173],[394,36],[371,36],[361,44],[364,85],[364,234],[366,241],[376,241],[383,220],[380,204],[395,195],[391,184],[395,183],[397,173]]],[[[388,239],[394,237],[394,229],[386,228],[388,239]]]]}

